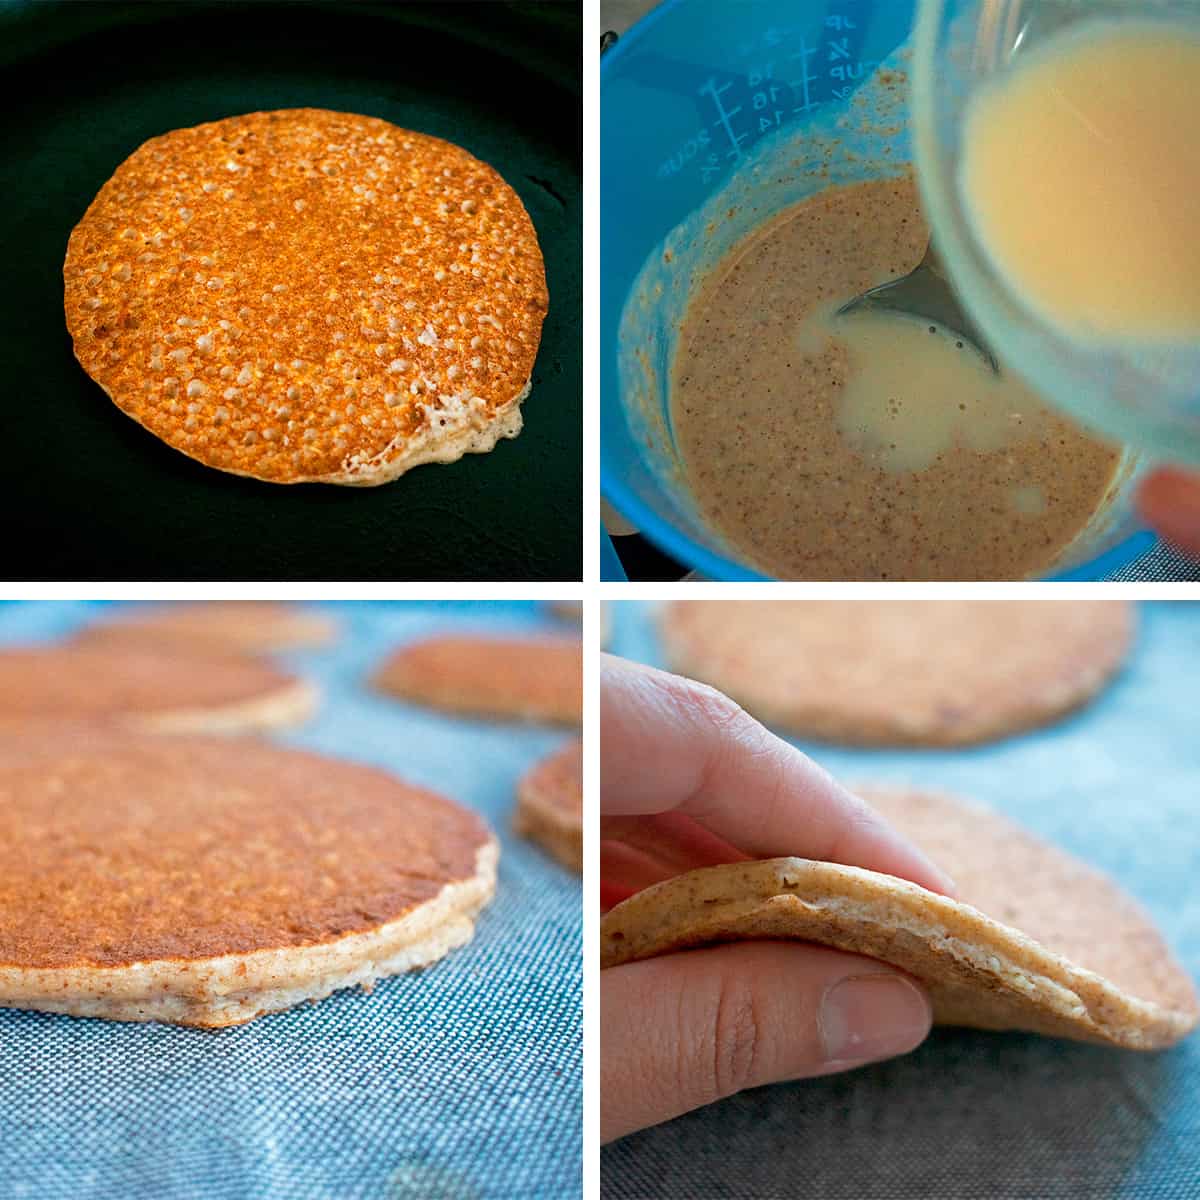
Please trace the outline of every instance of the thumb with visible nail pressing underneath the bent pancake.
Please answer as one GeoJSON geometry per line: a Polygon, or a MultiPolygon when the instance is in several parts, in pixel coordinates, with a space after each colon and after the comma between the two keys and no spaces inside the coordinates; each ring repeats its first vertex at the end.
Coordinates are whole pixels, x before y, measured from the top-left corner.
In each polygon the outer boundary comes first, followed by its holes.
{"type": "Polygon", "coordinates": [[[742,942],[600,973],[605,1141],[702,1104],[919,1045],[931,1009],[906,974],[803,942],[742,942]]]}

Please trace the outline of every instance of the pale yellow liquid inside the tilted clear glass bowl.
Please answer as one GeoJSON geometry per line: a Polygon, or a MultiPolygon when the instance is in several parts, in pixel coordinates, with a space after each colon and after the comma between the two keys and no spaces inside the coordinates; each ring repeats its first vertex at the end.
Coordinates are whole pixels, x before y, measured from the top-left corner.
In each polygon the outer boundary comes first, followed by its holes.
{"type": "Polygon", "coordinates": [[[1010,284],[1072,334],[1200,335],[1200,32],[1106,23],[971,102],[962,188],[1010,284]]]}

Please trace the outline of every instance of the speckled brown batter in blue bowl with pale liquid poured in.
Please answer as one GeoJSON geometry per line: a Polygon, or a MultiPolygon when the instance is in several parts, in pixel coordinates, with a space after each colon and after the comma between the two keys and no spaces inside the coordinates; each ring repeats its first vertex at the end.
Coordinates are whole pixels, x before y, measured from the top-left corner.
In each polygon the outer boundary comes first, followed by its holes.
{"type": "Polygon", "coordinates": [[[908,176],[829,188],[739,245],[692,300],[671,418],[704,520],[764,574],[1044,574],[1118,450],[1012,373],[899,317],[835,318],[929,238],[908,176]]]}

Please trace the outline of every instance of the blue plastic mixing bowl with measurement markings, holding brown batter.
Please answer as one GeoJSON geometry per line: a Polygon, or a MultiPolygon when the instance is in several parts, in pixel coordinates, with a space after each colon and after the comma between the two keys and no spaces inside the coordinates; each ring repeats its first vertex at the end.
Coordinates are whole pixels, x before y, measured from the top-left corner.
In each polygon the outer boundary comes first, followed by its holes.
{"type": "MultiPolygon", "coordinates": [[[[644,403],[629,386],[623,316],[672,232],[767,139],[803,145],[906,42],[913,17],[912,0],[667,0],[601,60],[601,486],[647,536],[710,578],[762,576],[704,523],[683,478],[667,396],[678,311],[646,312],[635,347],[650,380],[644,403]]],[[[737,221],[749,228],[754,217],[737,221]]],[[[1115,502],[1056,578],[1104,578],[1153,544],[1132,515],[1136,466],[1130,456],[1115,502]]]]}

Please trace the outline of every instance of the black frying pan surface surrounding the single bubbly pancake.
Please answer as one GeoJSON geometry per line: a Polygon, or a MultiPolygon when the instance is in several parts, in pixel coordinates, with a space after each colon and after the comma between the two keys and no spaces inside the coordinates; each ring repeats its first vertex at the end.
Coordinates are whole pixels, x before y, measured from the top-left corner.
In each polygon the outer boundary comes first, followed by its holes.
{"type": "Polygon", "coordinates": [[[0,578],[581,578],[580,47],[575,2],[0,7],[22,97],[0,131],[0,578]],[[550,313],[516,440],[382,487],[259,484],[158,442],[76,362],[62,257],[116,164],[299,106],[449,138],[521,194],[550,313]]]}

